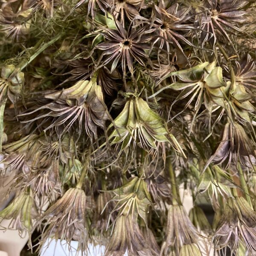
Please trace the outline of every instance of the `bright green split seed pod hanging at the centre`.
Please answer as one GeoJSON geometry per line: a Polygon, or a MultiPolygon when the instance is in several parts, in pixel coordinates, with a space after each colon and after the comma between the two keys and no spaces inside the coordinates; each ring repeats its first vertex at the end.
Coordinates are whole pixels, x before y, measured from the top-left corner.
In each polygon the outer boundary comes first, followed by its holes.
{"type": "MultiPolygon", "coordinates": [[[[152,111],[142,98],[134,97],[128,100],[113,123],[116,129],[109,136],[109,140],[110,145],[121,145],[119,156],[125,149],[134,154],[137,146],[145,151],[157,153],[159,143],[168,143],[185,156],[161,116],[152,111]]],[[[108,129],[112,127],[113,124],[108,129]]]]}

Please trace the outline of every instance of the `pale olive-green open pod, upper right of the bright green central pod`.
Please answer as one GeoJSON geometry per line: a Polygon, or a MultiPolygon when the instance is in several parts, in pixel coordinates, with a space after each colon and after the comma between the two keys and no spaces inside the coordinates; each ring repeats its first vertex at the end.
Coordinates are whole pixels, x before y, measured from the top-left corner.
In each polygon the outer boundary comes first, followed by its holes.
{"type": "Polygon", "coordinates": [[[172,72],[168,76],[177,76],[179,81],[162,87],[156,93],[148,97],[148,99],[154,98],[154,96],[166,89],[180,91],[180,94],[172,102],[172,105],[180,100],[188,98],[186,105],[180,112],[182,113],[193,104],[194,117],[192,119],[190,130],[193,127],[193,123],[203,102],[209,113],[213,111],[214,106],[225,107],[224,88],[226,87],[226,84],[222,78],[222,69],[221,67],[216,67],[215,62],[204,62],[186,70],[172,72]]]}

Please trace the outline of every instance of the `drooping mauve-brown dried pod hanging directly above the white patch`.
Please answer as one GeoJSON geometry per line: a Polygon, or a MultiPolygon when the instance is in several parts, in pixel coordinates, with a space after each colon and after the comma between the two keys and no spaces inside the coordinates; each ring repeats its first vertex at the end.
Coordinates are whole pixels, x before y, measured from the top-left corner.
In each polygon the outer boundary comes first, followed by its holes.
{"type": "Polygon", "coordinates": [[[71,188],[38,220],[46,227],[42,231],[42,244],[48,237],[78,241],[78,250],[87,248],[87,220],[86,209],[91,207],[91,201],[86,197],[84,190],[71,188]],[[46,222],[45,222],[46,221],[46,222]]]}

